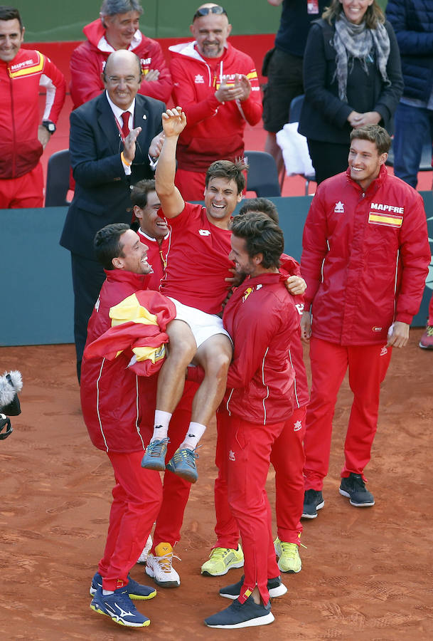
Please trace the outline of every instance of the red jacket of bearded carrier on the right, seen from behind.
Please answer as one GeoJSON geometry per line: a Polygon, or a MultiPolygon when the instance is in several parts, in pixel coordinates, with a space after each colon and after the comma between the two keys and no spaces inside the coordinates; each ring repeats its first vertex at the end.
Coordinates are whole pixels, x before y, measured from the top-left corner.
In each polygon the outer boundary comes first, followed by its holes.
{"type": "Polygon", "coordinates": [[[223,315],[235,343],[225,405],[228,412],[256,424],[284,421],[293,412],[295,374],[289,350],[300,313],[284,280],[280,273],[246,279],[223,315]]]}

